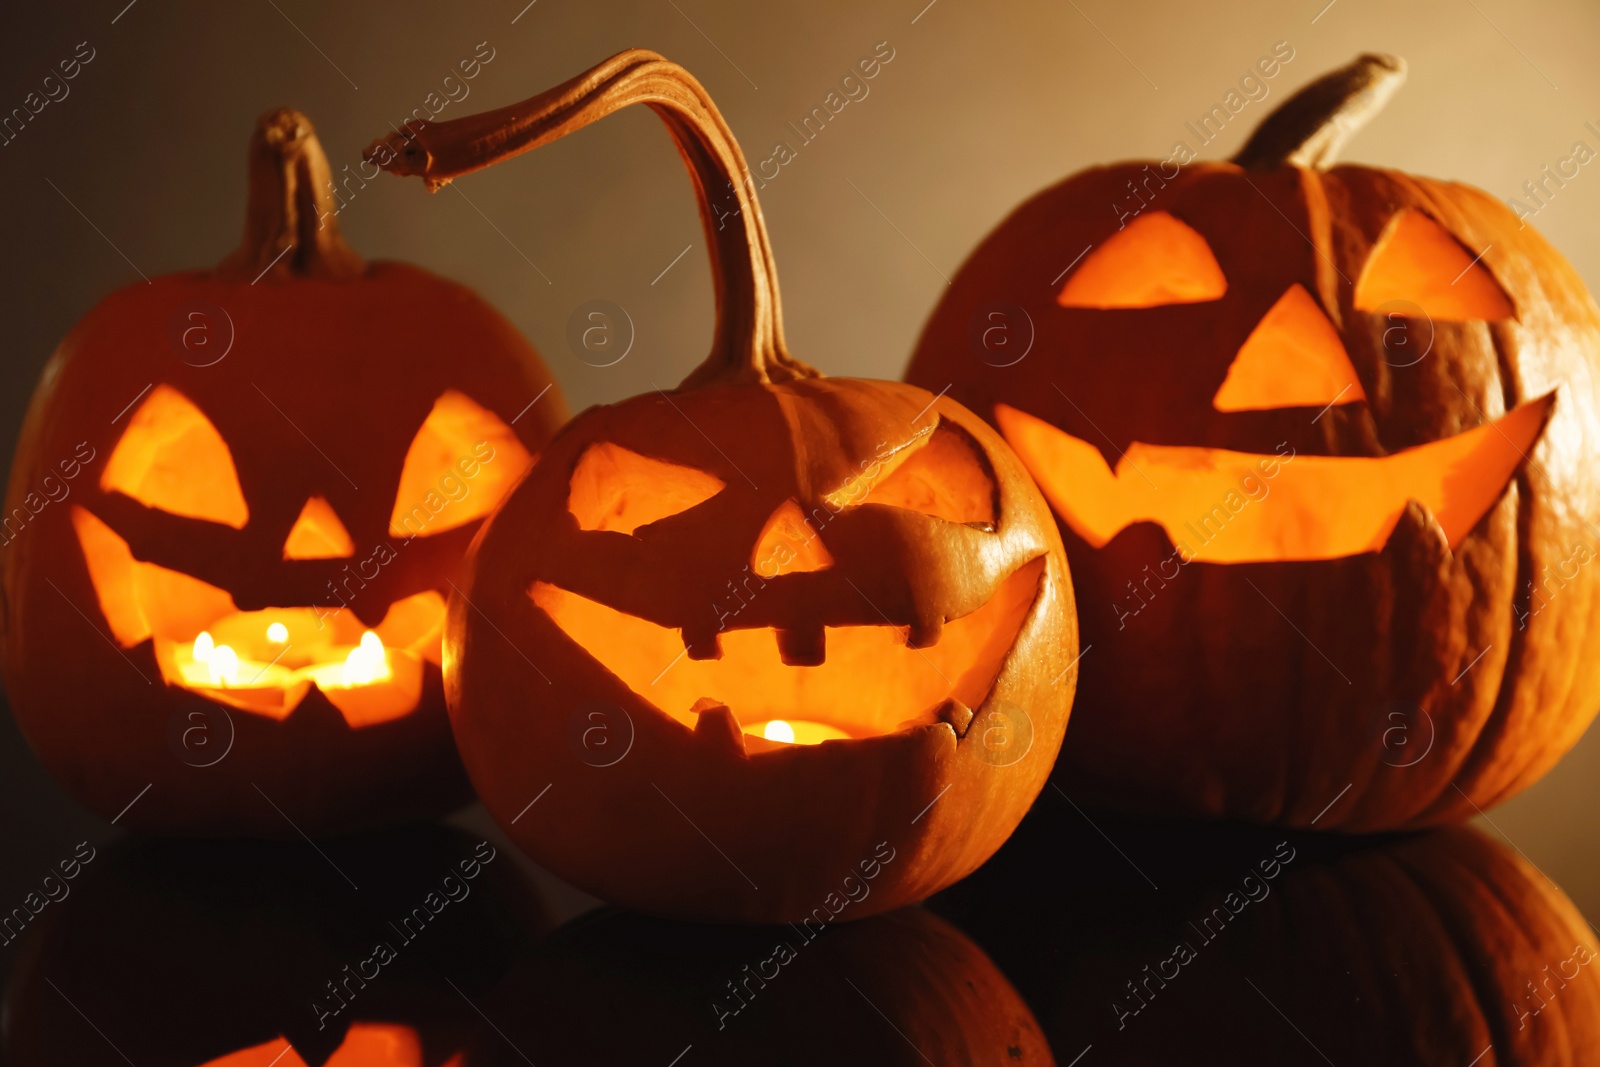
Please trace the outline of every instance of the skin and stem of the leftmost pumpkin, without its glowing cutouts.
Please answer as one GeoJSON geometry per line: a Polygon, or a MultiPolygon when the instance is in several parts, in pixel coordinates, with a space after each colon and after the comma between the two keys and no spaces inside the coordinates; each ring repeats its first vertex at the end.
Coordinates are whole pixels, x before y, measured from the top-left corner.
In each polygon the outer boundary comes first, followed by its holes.
{"type": "MultiPolygon", "coordinates": [[[[8,530],[3,560],[6,693],[40,760],[102,816],[128,808],[123,827],[293,837],[438,814],[470,798],[437,657],[421,659],[414,709],[373,725],[347,725],[315,686],[282,720],[224,707],[173,685],[149,633],[115,633],[102,601],[114,584],[96,585],[80,544],[82,526],[99,523],[134,558],[221,589],[240,611],[347,605],[358,632],[432,590],[442,617],[478,522],[446,528],[446,509],[432,528],[411,526],[424,536],[390,533],[413,435],[454,390],[510,426],[507,440],[526,456],[562,421],[562,402],[549,395],[528,408],[549,374],[474,293],[406,264],[363,266],[331,214],[318,224],[331,208],[325,176],[304,117],[264,117],[242,253],[216,270],[109,296],[51,357],[22,427],[6,496],[6,515],[27,517],[8,530]],[[195,307],[206,309],[198,322],[219,347],[232,336],[226,357],[203,366],[211,357],[181,342],[195,307]],[[227,446],[248,507],[242,528],[106,488],[142,405],[170,390],[227,446]],[[64,461],[75,478],[62,477],[64,461]],[[53,485],[67,494],[37,509],[53,485]],[[285,558],[310,498],[331,506],[349,553],[285,558]]],[[[502,451],[502,466],[517,462],[502,451]]],[[[206,490],[203,504],[224,488],[206,490]]],[[[470,493],[448,507],[475,507],[470,493]]]]}

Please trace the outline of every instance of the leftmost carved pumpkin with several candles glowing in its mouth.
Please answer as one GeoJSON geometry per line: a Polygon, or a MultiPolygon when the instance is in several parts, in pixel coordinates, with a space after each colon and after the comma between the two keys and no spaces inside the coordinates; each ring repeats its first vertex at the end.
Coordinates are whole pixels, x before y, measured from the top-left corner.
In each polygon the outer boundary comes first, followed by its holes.
{"type": "Polygon", "coordinates": [[[262,117],[250,166],[234,258],[112,294],[45,368],[3,518],[11,707],[85,805],[139,797],[125,827],[443,811],[445,597],[562,402],[470,291],[339,240],[302,115],[262,117]]]}

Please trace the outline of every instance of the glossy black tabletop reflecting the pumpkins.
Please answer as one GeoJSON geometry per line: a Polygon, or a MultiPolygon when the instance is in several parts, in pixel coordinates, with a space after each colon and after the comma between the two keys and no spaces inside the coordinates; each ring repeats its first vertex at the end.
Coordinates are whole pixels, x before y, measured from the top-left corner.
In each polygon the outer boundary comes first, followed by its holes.
{"type": "Polygon", "coordinates": [[[494,832],[67,849],[6,1064],[1589,1064],[1594,931],[1474,829],[1349,840],[1046,790],[923,907],[590,909],[494,832]],[[67,877],[70,872],[70,877],[67,877]]]}

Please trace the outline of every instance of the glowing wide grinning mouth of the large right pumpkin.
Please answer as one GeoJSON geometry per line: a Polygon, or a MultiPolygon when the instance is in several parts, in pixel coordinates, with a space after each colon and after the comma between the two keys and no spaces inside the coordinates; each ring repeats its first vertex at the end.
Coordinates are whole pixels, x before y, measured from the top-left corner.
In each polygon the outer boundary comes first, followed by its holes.
{"type": "Polygon", "coordinates": [[[1376,552],[1408,501],[1454,549],[1506,491],[1555,394],[1494,422],[1394,456],[1258,456],[1134,442],[1115,472],[1088,442],[995,405],[995,422],[1056,514],[1093,547],[1136,522],[1208,563],[1333,560],[1376,552]]]}

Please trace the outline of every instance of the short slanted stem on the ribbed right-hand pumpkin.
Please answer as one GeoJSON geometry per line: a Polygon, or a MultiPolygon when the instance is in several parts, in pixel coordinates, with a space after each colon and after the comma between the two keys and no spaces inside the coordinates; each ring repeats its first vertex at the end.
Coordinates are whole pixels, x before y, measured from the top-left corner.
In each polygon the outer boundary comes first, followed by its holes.
{"type": "Polygon", "coordinates": [[[1246,171],[1326,170],[1405,82],[1405,59],[1368,53],[1330,70],[1272,110],[1234,162],[1246,171]]]}

